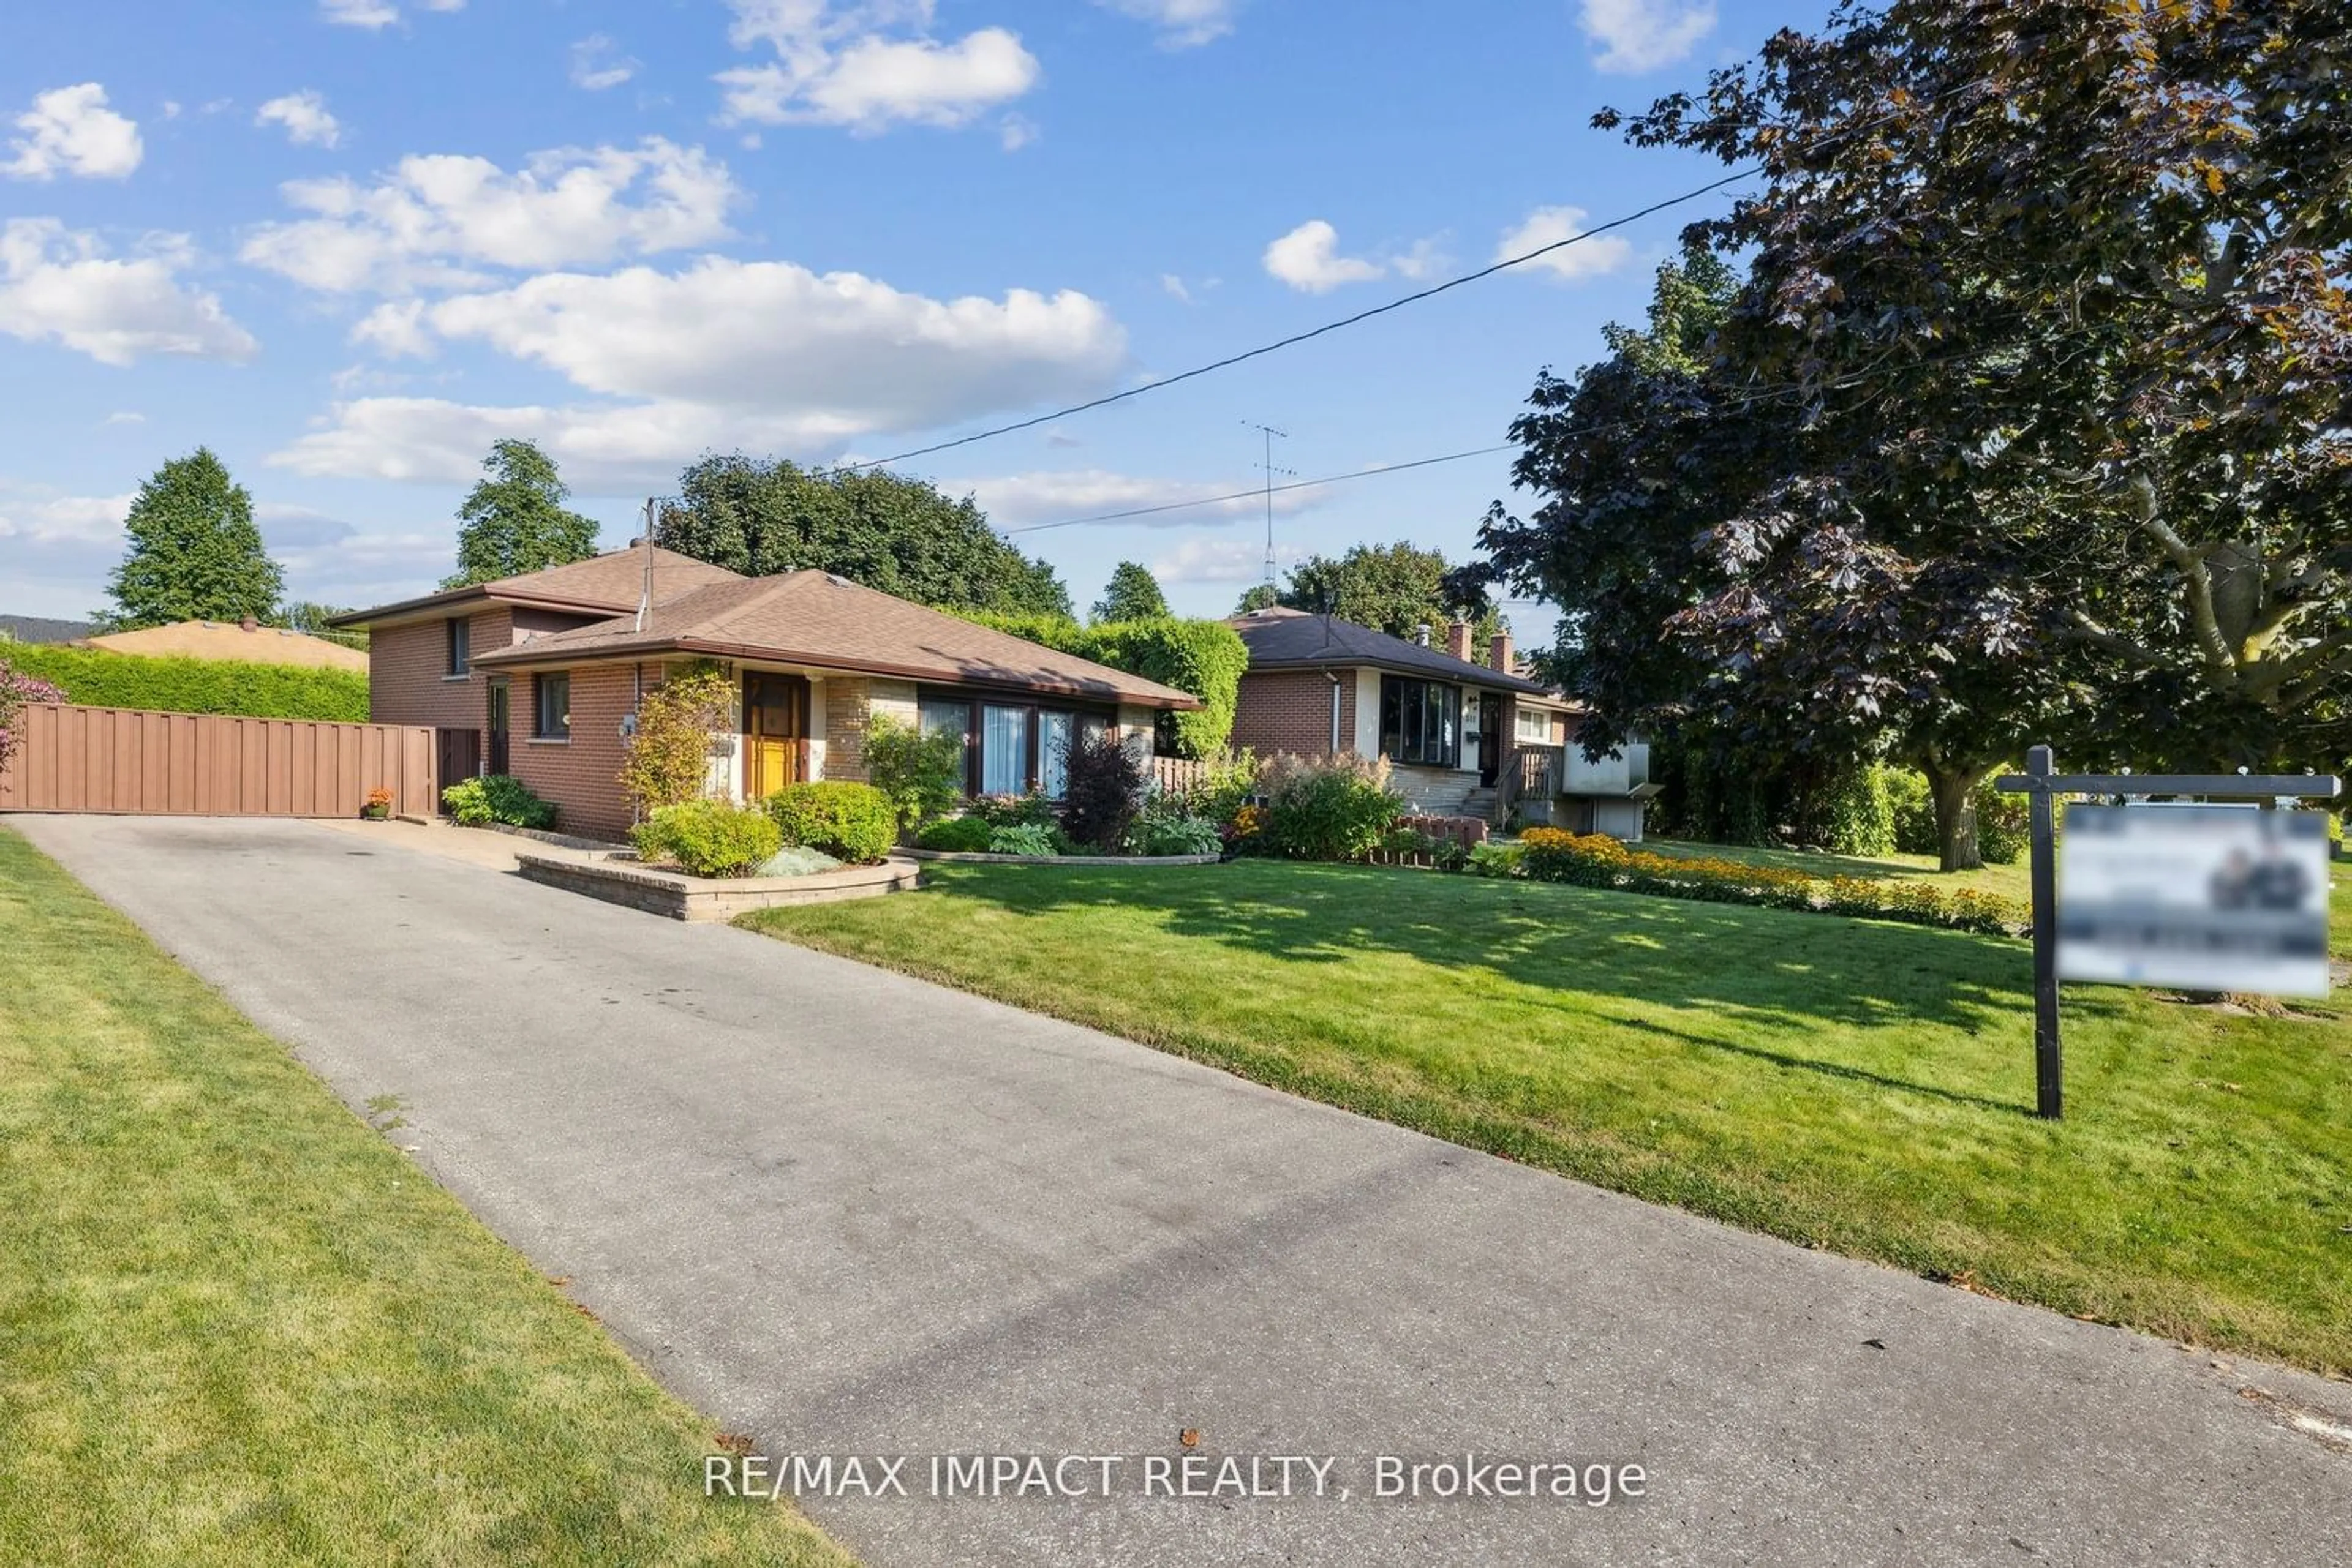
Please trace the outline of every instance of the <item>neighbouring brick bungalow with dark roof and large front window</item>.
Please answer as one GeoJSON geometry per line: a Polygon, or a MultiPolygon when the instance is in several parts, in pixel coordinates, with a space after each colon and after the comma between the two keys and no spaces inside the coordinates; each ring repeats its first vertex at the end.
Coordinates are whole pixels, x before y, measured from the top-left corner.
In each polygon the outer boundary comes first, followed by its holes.
{"type": "Polygon", "coordinates": [[[1470,658],[1470,623],[1446,644],[1406,642],[1336,616],[1261,609],[1230,621],[1249,646],[1232,743],[1272,752],[1388,757],[1416,811],[1498,813],[1519,748],[1557,750],[1576,705],[1519,675],[1510,637],[1470,658]]]}

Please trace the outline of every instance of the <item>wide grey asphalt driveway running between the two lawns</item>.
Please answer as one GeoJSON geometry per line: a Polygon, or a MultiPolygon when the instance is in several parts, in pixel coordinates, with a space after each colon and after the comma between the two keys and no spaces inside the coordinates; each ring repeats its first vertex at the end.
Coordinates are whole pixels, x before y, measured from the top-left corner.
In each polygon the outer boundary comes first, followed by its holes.
{"type": "MultiPolygon", "coordinates": [[[[814,1502],[873,1563],[2324,1563],[2352,1387],[416,853],[12,818],[771,1453],[1338,1455],[1338,1500],[814,1502]],[[1649,1495],[1369,1497],[1374,1455],[1649,1495]]],[[[421,832],[421,830],[407,830],[421,832]]],[[[920,1465],[920,1462],[917,1462],[920,1465]]],[[[1298,1472],[1303,1479],[1303,1472],[1298,1472]]]]}

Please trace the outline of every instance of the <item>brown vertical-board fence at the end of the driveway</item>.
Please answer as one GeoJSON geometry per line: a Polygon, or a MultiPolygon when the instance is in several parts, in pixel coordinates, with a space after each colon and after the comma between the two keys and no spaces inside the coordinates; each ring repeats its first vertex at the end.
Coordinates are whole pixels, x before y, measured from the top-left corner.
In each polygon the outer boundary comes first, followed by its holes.
{"type": "Polygon", "coordinates": [[[132,708],[26,708],[0,811],[360,816],[369,790],[426,813],[433,731],[132,708]]]}

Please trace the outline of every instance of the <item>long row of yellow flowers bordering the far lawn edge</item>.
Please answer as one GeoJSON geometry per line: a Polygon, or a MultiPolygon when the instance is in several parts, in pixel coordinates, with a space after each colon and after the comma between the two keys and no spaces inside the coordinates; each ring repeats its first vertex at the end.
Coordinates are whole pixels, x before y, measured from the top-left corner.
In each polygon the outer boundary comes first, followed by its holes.
{"type": "Polygon", "coordinates": [[[1576,835],[1559,827],[1529,827],[1519,835],[1519,875],[1536,882],[1569,882],[1705,903],[1745,903],[1766,910],[1860,914],[1992,936],[2023,931],[2030,922],[2025,905],[2016,898],[1978,893],[1976,889],[1938,889],[1924,882],[1870,877],[1811,877],[1799,870],[1740,860],[1684,860],[1653,856],[1606,835],[1576,835]]]}

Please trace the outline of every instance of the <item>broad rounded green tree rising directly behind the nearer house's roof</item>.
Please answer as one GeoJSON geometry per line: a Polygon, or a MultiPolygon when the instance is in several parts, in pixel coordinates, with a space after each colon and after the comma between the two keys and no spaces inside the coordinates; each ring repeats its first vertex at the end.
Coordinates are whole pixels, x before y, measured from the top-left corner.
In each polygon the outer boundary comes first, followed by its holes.
{"type": "Polygon", "coordinates": [[[917,604],[1073,614],[1054,569],[1004,543],[971,496],[894,473],[706,456],[654,538],[746,576],[814,567],[917,604]]]}

